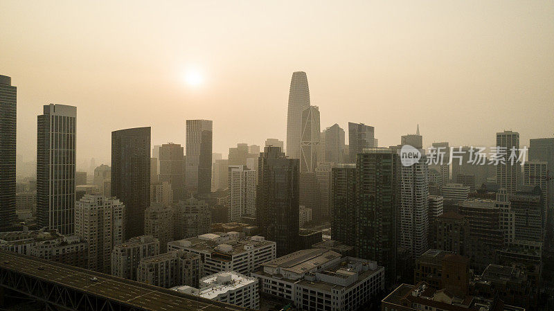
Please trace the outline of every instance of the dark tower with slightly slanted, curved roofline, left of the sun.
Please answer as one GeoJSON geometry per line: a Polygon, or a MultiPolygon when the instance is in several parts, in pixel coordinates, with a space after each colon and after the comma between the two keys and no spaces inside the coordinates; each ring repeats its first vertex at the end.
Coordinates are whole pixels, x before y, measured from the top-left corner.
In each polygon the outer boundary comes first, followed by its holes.
{"type": "Polygon", "coordinates": [[[125,240],[143,236],[150,206],[150,127],[111,132],[111,195],[125,204],[125,240]]]}

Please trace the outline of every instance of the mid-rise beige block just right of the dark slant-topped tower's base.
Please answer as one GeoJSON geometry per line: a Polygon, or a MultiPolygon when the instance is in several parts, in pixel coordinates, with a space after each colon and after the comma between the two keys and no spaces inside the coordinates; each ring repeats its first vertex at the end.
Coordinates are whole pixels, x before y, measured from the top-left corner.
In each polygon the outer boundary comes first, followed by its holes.
{"type": "Polygon", "coordinates": [[[168,249],[173,240],[173,209],[171,206],[152,203],[144,211],[144,234],[153,236],[160,242],[160,253],[168,249]]]}

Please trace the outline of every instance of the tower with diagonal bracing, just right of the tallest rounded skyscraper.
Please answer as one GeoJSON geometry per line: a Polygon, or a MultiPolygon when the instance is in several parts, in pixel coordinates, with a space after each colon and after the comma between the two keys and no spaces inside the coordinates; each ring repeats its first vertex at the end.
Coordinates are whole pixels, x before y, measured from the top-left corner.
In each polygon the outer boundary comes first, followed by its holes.
{"type": "Polygon", "coordinates": [[[302,112],[300,172],[314,172],[319,157],[319,108],[310,106],[302,112]]]}

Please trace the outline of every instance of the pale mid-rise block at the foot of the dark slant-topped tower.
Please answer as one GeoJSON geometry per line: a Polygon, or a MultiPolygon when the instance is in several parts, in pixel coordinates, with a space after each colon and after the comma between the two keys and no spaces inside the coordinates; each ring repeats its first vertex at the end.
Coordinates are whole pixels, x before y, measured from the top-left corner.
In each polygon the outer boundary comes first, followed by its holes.
{"type": "Polygon", "coordinates": [[[142,258],[160,254],[160,242],[152,236],[137,236],[114,245],[111,251],[111,275],[136,281],[136,269],[142,258]]]}

